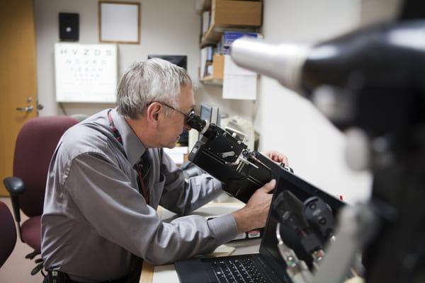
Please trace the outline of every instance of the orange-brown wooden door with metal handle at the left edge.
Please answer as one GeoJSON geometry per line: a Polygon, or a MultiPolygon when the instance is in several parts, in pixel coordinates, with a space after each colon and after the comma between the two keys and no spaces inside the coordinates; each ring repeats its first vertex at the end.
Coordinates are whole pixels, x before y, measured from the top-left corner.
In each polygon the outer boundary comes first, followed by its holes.
{"type": "Polygon", "coordinates": [[[7,195],[3,179],[12,175],[19,129],[37,116],[33,11],[33,0],[1,1],[0,195],[7,195]]]}

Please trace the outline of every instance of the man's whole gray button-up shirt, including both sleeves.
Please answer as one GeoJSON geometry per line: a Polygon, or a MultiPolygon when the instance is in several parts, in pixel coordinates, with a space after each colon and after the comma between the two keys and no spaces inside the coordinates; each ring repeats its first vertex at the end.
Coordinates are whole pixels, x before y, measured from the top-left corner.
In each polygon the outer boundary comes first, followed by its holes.
{"type": "Polygon", "coordinates": [[[42,214],[42,258],[72,279],[98,282],[128,275],[131,254],[164,264],[208,253],[237,236],[231,214],[207,221],[183,216],[171,223],[156,209],[185,215],[217,197],[221,183],[201,175],[186,182],[162,149],[145,149],[124,118],[108,110],[65,132],[50,163],[42,214]],[[149,205],[133,166],[148,150],[149,205]]]}

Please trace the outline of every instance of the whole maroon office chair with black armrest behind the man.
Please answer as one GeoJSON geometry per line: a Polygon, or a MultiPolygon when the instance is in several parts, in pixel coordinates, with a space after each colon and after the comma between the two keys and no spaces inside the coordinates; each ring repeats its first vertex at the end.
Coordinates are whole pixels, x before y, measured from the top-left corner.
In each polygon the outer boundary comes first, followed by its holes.
{"type": "MultiPolygon", "coordinates": [[[[40,220],[50,159],[62,134],[77,122],[67,116],[36,117],[23,125],[16,138],[13,176],[3,183],[11,195],[19,237],[34,249],[26,255],[30,260],[41,250],[40,220]],[[29,217],[22,225],[20,209],[29,217]]],[[[40,258],[35,263],[32,275],[42,269],[40,258]]]]}

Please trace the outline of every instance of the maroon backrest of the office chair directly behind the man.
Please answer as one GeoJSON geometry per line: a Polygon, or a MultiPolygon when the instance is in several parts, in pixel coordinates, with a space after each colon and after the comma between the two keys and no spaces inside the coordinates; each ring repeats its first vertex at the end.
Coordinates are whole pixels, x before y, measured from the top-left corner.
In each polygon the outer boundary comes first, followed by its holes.
{"type": "Polygon", "coordinates": [[[49,163],[62,134],[77,120],[67,116],[36,117],[26,122],[16,139],[13,175],[26,191],[19,204],[27,216],[42,214],[49,163]]]}

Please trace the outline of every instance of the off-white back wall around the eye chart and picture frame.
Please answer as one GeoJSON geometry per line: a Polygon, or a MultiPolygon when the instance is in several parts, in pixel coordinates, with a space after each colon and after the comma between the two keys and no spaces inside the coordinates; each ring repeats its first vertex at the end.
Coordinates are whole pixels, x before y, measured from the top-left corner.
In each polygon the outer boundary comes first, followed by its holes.
{"type": "MultiPolygon", "coordinates": [[[[227,100],[220,103],[221,88],[198,81],[200,18],[195,0],[140,0],[140,45],[118,45],[120,74],[135,60],[148,54],[187,54],[188,72],[196,84],[196,100],[220,104],[223,112],[253,118],[254,103],[227,100]]],[[[63,114],[55,101],[54,45],[59,42],[58,13],[79,13],[81,44],[98,43],[98,0],[35,0],[37,37],[38,100],[44,105],[40,116],[63,114]]],[[[68,115],[91,115],[111,104],[62,103],[68,115]]]]}

